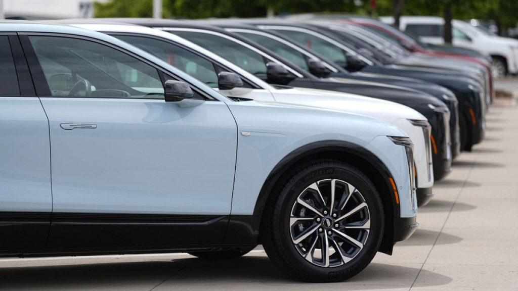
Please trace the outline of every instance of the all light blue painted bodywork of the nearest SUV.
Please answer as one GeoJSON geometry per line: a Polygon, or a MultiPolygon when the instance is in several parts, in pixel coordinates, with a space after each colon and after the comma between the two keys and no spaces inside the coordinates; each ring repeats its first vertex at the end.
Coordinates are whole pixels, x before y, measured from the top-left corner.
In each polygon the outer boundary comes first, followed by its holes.
{"type": "MultiPolygon", "coordinates": [[[[322,140],[365,147],[390,169],[398,187],[409,187],[404,149],[386,138],[407,135],[393,125],[311,107],[236,103],[131,45],[77,27],[5,23],[0,31],[104,40],[219,100],[180,107],[164,100],[42,97],[50,120],[50,150],[38,99],[2,98],[0,130],[6,133],[2,138],[9,147],[4,149],[2,158],[7,161],[0,169],[8,173],[2,186],[12,190],[6,192],[10,196],[0,196],[11,199],[0,205],[3,209],[51,209],[50,152],[55,212],[228,214],[232,207],[233,214],[252,214],[275,165],[295,149],[322,140]],[[97,127],[66,130],[60,126],[63,123],[97,127]],[[20,181],[26,183],[20,186],[20,181]],[[25,197],[14,197],[16,187],[22,187],[19,193],[25,197]]],[[[409,217],[415,213],[408,207],[409,190],[404,192],[400,190],[401,216],[409,217]]]]}

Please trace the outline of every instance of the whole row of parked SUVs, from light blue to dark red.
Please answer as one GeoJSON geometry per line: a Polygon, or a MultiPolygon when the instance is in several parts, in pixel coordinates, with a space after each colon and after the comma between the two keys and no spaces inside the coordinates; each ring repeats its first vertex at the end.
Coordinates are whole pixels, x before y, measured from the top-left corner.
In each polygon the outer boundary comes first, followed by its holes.
{"type": "Polygon", "coordinates": [[[313,282],[392,254],[482,141],[493,83],[485,55],[370,23],[1,23],[0,253],[263,244],[313,282]]]}

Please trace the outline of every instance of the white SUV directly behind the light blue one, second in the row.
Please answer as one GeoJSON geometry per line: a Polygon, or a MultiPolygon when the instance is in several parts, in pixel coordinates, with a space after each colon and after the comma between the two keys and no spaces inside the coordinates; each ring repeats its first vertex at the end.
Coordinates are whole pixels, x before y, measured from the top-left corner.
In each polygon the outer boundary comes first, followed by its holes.
{"type": "Polygon", "coordinates": [[[249,74],[246,70],[188,40],[148,27],[124,24],[95,24],[95,21],[88,21],[91,24],[73,24],[71,21],[66,23],[103,32],[124,40],[131,45],[160,57],[163,61],[177,64],[179,69],[190,71],[193,77],[205,80],[213,88],[218,88],[218,72],[214,70],[212,74],[208,74],[210,67],[220,68],[219,72],[224,71],[238,74],[243,84],[246,85],[230,90],[219,90],[220,93],[226,96],[332,109],[362,114],[392,123],[403,129],[414,143],[413,153],[416,168],[418,206],[425,205],[433,195],[432,186],[434,178],[433,166],[431,164],[430,129],[427,127],[426,118],[415,110],[389,101],[334,91],[275,88],[249,74]],[[171,59],[173,55],[175,57],[171,59]],[[188,62],[182,66],[180,65],[180,60],[188,60],[188,62]],[[197,64],[198,67],[194,67],[194,64],[197,64]]]}

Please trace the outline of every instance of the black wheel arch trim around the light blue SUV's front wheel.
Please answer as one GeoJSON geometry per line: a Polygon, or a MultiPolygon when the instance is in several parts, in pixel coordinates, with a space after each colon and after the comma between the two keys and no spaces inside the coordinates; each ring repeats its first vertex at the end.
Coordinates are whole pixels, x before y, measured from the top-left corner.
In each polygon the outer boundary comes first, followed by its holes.
{"type": "MultiPolygon", "coordinates": [[[[399,205],[396,203],[394,191],[389,181],[389,177],[392,177],[391,173],[375,154],[351,142],[319,141],[307,144],[286,155],[272,169],[265,180],[255,203],[254,216],[258,217],[260,223],[262,223],[265,207],[268,201],[274,197],[277,187],[280,187],[287,179],[285,174],[297,165],[314,158],[329,158],[348,163],[369,177],[380,194],[385,213],[385,231],[379,251],[391,254],[394,245],[394,217],[400,215],[399,205]]],[[[260,226],[259,229],[261,229],[260,226]]]]}

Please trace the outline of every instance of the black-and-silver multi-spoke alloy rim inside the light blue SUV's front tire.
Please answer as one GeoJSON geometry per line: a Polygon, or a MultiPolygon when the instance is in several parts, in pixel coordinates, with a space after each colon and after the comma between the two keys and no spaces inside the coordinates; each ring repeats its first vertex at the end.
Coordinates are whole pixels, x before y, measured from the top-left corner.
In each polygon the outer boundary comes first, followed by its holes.
{"type": "Polygon", "coordinates": [[[339,267],[364,249],[369,207],[351,183],[324,179],[298,195],[289,226],[292,243],[303,258],[319,267],[339,267]]]}

